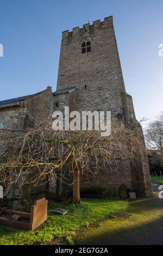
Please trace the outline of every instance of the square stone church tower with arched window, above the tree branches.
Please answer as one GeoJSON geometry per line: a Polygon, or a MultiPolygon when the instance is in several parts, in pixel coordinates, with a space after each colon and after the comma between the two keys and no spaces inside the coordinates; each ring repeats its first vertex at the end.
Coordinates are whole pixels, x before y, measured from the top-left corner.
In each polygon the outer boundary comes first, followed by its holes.
{"type": "Polygon", "coordinates": [[[62,32],[57,91],[72,87],[76,111],[111,111],[122,119],[135,118],[124,87],[112,16],[62,32]]]}

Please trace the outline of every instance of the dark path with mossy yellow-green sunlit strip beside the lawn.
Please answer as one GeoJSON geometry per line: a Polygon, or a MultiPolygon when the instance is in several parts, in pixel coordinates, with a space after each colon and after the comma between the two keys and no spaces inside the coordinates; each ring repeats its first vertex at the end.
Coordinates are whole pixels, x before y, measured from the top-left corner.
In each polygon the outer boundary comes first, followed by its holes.
{"type": "Polygon", "coordinates": [[[157,197],[130,202],[122,212],[127,220],[114,218],[98,228],[89,228],[79,245],[163,245],[163,199],[157,197]]]}

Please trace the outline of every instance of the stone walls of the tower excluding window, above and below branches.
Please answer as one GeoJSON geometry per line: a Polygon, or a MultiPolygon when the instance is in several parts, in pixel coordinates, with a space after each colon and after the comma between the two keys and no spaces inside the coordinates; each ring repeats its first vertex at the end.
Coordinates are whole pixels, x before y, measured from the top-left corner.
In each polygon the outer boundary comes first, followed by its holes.
{"type": "MultiPolygon", "coordinates": [[[[126,93],[120,58],[116,43],[112,16],[87,23],[83,28],[73,28],[72,32],[62,33],[57,90],[76,87],[74,94],[75,111],[111,111],[112,116],[120,118],[131,129],[137,125],[133,100],[126,93]],[[81,53],[84,38],[91,40],[91,52],[81,53]]],[[[68,106],[68,95],[54,96],[59,108],[68,106]]],[[[139,136],[143,138],[140,129],[139,136]]],[[[81,176],[83,191],[103,188],[103,193],[119,196],[122,184],[135,187],[140,196],[152,191],[146,155],[139,156],[135,163],[118,164],[116,171],[99,172],[96,175],[81,176]]]]}

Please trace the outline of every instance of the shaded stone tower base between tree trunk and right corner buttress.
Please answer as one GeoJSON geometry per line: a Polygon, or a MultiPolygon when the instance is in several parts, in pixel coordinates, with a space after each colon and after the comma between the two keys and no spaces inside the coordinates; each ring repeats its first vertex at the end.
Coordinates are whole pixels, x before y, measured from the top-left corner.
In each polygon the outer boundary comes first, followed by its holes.
{"type": "Polygon", "coordinates": [[[108,166],[107,170],[99,170],[97,174],[83,173],[80,175],[80,188],[84,196],[120,197],[120,186],[132,187],[130,163],[117,162],[117,166],[108,166]]]}

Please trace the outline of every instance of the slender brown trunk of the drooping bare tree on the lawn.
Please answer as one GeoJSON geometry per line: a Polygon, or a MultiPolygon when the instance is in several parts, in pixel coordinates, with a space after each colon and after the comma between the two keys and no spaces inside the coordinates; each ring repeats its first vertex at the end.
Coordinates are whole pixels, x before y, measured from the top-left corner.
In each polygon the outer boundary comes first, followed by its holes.
{"type": "Polygon", "coordinates": [[[74,167],[74,184],[73,184],[73,204],[80,204],[80,170],[78,164],[76,163],[74,167]]]}

